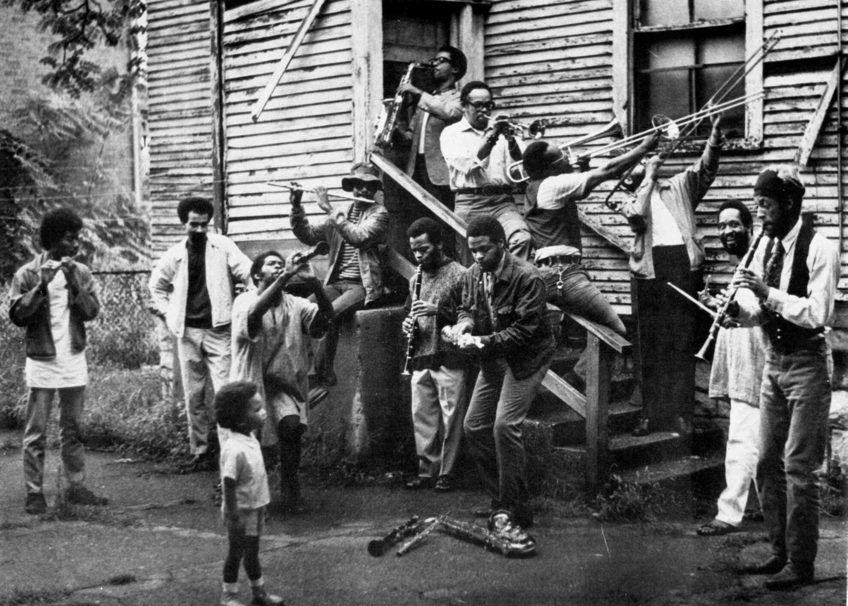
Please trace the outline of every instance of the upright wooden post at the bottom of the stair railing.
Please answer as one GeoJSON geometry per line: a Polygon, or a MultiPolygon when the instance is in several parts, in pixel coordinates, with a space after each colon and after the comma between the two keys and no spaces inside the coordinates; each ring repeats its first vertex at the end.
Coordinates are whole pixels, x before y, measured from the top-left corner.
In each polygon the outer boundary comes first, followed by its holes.
{"type": "Polygon", "coordinates": [[[586,486],[588,498],[594,498],[606,481],[609,471],[607,416],[610,405],[612,350],[589,332],[584,355],[589,356],[589,367],[586,369],[586,486]]]}

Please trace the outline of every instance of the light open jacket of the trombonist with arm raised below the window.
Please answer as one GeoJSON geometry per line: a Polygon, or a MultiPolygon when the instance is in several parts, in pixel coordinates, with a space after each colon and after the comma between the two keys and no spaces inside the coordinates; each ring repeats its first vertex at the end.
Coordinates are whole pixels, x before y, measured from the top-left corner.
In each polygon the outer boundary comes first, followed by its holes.
{"type": "Polygon", "coordinates": [[[667,181],[654,183],[645,179],[636,190],[636,197],[622,205],[622,214],[636,234],[630,248],[630,271],[633,277],[652,280],[655,276],[654,255],[651,251],[653,221],[650,214],[650,197],[655,188],[674,222],[678,224],[686,252],[689,253],[690,269],[697,270],[704,264],[704,244],[695,224],[695,208],[716,178],[719,149],[707,143],[703,155],[695,164],[667,181]]]}

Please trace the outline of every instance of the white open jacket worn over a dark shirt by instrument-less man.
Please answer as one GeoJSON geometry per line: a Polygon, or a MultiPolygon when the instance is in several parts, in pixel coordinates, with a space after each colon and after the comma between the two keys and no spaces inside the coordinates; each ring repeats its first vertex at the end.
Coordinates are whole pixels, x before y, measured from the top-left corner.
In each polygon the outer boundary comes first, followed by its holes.
{"type": "MultiPolygon", "coordinates": [[[[188,298],[188,238],[170,247],[150,275],[150,299],[153,309],[165,315],[168,328],[182,336],[186,327],[188,298]]],[[[235,242],[219,234],[206,234],[206,289],[212,304],[212,326],[227,325],[232,316],[233,284],[250,281],[251,261],[235,242]]]]}

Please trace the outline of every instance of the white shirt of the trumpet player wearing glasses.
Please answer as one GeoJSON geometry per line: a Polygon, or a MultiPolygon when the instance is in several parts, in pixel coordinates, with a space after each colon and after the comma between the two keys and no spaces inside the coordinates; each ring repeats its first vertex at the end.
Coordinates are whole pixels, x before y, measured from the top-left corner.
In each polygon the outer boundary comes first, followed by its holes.
{"type": "MultiPolygon", "coordinates": [[[[439,141],[444,161],[448,164],[450,189],[510,183],[507,169],[516,160],[510,156],[508,144],[503,136],[499,137],[487,158],[477,158],[477,151],[483,144],[483,139],[491,133],[490,128],[478,131],[468,123],[465,116],[459,122],[445,126],[439,141]]],[[[518,142],[518,147],[523,151],[521,142],[518,142]]]]}

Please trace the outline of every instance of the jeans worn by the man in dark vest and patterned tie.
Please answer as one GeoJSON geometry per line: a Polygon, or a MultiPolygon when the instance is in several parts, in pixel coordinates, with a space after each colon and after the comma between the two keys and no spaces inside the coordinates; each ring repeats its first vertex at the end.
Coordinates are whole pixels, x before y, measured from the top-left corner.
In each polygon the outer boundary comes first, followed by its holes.
{"type": "Polygon", "coordinates": [[[824,459],[830,410],[827,350],[770,350],[760,391],[756,484],[772,552],[812,564],[818,546],[816,470],[824,459]]]}

